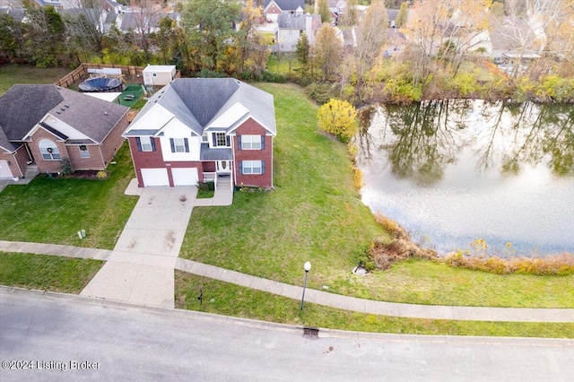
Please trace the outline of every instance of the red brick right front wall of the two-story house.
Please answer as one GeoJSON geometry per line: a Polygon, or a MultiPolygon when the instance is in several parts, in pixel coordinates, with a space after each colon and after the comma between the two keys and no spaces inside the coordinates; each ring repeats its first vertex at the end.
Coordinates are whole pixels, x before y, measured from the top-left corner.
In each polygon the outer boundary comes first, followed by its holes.
{"type": "Polygon", "coordinates": [[[235,184],[237,186],[273,187],[273,136],[266,135],[267,130],[252,118],[239,126],[235,134],[233,138],[235,184]],[[239,135],[265,135],[265,150],[239,150],[239,135]],[[265,174],[241,174],[239,161],[265,161],[265,174]]]}

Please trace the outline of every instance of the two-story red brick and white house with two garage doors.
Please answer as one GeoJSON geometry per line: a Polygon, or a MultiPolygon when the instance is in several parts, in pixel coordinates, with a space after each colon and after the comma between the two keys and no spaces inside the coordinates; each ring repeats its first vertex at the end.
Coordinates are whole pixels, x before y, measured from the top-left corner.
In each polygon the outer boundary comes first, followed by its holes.
{"type": "Polygon", "coordinates": [[[124,133],[139,187],[196,186],[230,177],[273,187],[273,96],[232,78],[177,78],[124,133]]]}

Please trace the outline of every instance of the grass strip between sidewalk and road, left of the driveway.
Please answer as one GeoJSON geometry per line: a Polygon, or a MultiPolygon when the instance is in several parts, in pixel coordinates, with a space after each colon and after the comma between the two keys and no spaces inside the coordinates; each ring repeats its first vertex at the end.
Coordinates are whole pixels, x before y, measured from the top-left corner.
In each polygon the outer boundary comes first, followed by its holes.
{"type": "Polygon", "coordinates": [[[80,293],[103,264],[83,258],[0,252],[0,284],[80,293]]]}

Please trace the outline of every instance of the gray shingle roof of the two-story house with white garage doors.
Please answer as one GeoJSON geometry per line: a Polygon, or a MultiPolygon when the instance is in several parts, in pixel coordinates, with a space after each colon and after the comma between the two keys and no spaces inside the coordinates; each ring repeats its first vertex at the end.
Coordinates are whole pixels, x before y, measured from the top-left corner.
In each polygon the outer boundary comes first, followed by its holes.
{"type": "MultiPolygon", "coordinates": [[[[147,101],[131,126],[135,126],[158,104],[168,109],[196,135],[202,135],[205,126],[238,102],[273,135],[276,134],[273,95],[233,78],[177,78],[147,101]]],[[[162,126],[154,127],[159,130],[162,126]]],[[[140,131],[128,128],[125,135],[135,136],[140,131]]],[[[151,131],[149,135],[153,135],[151,131]]]]}

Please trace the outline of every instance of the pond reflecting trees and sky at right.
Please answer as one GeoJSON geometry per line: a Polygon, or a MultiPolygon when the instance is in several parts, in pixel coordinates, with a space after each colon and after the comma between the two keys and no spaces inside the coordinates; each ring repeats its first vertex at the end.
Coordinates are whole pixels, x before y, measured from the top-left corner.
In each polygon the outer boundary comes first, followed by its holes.
{"type": "Polygon", "coordinates": [[[574,107],[432,100],[361,110],[362,201],[439,253],[574,252],[574,107]]]}

